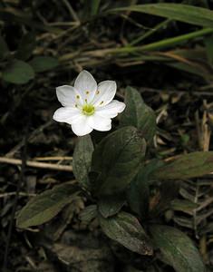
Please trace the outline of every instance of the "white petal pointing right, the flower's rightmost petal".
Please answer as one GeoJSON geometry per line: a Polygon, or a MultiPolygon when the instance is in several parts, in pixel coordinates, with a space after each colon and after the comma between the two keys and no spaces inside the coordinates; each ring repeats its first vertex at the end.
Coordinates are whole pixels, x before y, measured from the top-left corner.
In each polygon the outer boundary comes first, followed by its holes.
{"type": "Polygon", "coordinates": [[[119,102],[117,100],[112,100],[108,105],[103,107],[98,107],[96,112],[98,115],[105,118],[114,118],[124,111],[126,105],[123,102],[119,102]]]}

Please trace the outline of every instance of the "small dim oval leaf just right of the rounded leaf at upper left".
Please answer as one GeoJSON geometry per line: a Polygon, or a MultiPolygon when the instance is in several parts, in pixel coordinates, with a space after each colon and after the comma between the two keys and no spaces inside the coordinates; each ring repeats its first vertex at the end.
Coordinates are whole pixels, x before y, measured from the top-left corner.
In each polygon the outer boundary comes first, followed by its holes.
{"type": "Polygon", "coordinates": [[[36,56],[29,62],[35,73],[42,73],[53,70],[58,66],[58,60],[49,56],[36,56]]]}

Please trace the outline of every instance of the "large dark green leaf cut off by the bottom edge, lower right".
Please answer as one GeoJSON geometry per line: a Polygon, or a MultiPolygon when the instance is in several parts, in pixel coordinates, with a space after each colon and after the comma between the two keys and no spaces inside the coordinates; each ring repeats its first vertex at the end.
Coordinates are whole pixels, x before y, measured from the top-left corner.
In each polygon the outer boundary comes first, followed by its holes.
{"type": "Polygon", "coordinates": [[[150,233],[160,248],[163,260],[177,272],[204,272],[204,264],[198,249],[189,237],[177,228],[152,226],[150,233]]]}

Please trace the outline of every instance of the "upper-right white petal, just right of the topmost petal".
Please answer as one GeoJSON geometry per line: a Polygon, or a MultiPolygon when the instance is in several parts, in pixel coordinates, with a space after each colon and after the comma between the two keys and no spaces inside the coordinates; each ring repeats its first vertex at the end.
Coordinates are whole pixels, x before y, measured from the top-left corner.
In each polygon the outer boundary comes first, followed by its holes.
{"type": "Polygon", "coordinates": [[[105,106],[112,101],[115,96],[117,86],[113,81],[105,81],[98,84],[98,90],[95,94],[92,104],[97,106],[105,106]]]}

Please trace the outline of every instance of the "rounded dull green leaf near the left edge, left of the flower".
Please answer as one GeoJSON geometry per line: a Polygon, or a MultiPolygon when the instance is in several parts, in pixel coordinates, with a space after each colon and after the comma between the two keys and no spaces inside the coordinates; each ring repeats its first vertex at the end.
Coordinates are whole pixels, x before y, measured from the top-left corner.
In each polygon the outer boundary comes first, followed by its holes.
{"type": "Polygon", "coordinates": [[[7,83],[24,84],[34,78],[34,70],[28,63],[13,60],[6,65],[2,78],[7,83]]]}

